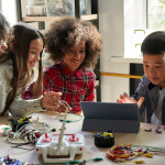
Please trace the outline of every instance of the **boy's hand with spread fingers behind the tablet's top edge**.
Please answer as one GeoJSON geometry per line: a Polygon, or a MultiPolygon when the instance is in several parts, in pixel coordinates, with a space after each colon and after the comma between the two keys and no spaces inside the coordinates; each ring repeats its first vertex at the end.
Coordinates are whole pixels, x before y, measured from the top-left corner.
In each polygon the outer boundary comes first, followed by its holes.
{"type": "Polygon", "coordinates": [[[143,101],[144,101],[144,97],[141,97],[139,101],[136,101],[134,98],[129,97],[127,92],[120,95],[120,99],[117,100],[117,102],[120,103],[136,103],[139,108],[142,106],[143,101]]]}

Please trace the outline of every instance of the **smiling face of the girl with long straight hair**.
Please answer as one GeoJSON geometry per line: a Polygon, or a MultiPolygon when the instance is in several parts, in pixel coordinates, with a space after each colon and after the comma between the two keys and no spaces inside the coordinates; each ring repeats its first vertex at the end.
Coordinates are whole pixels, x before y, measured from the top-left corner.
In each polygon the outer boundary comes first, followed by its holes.
{"type": "Polygon", "coordinates": [[[29,67],[32,70],[35,64],[40,61],[40,54],[43,51],[43,40],[36,38],[31,41],[29,50],[29,67]]]}

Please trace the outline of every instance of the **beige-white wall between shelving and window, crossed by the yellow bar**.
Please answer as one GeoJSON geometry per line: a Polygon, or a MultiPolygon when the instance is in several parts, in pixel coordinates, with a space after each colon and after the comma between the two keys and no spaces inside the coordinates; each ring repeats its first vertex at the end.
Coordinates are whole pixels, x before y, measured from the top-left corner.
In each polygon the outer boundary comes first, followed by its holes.
{"type": "MultiPolygon", "coordinates": [[[[111,62],[112,56],[124,56],[122,0],[99,0],[99,31],[103,37],[100,72],[129,74],[128,63],[111,62]]],[[[101,101],[116,102],[123,91],[129,92],[128,78],[101,76],[101,101]]]]}

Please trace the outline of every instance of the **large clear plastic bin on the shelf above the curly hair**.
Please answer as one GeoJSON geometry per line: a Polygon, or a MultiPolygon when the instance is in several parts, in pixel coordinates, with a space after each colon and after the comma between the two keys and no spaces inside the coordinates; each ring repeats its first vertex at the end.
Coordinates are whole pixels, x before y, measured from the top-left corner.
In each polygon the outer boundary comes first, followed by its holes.
{"type": "Polygon", "coordinates": [[[47,15],[74,15],[75,0],[45,0],[47,15]]]}

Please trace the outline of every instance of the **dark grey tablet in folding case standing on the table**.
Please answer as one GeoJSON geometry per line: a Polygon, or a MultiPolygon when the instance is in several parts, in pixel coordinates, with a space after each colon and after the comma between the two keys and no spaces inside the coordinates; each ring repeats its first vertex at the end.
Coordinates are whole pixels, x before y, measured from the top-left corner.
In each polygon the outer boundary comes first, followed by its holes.
{"type": "Polygon", "coordinates": [[[136,133],[140,113],[136,103],[80,102],[84,112],[82,131],[136,133]]]}

